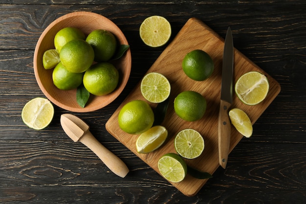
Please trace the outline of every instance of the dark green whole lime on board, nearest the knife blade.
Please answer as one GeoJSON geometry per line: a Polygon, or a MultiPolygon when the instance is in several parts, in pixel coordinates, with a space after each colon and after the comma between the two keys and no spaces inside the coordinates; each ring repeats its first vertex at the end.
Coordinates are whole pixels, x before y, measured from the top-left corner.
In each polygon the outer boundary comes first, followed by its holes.
{"type": "Polygon", "coordinates": [[[204,81],[212,75],[214,62],[209,54],[203,50],[195,49],[185,55],[182,68],[189,78],[204,81]]]}

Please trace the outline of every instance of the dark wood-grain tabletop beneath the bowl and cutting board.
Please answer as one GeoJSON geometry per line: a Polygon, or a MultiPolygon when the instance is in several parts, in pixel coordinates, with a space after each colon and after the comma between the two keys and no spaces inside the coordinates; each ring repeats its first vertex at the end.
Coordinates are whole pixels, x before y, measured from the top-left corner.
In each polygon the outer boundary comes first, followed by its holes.
{"type": "Polygon", "coordinates": [[[0,203],[5,204],[302,204],[306,201],[306,1],[304,0],[0,0],[0,203]],[[55,106],[41,131],[21,118],[25,103],[45,97],[33,70],[35,45],[57,18],[90,11],[109,18],[131,45],[130,80],[107,107],[83,118],[91,133],[129,167],[122,179],[66,136],[55,106]],[[186,197],[111,136],[105,124],[166,46],[152,48],[139,26],[152,15],[172,25],[172,38],[196,17],[281,85],[281,92],[242,138],[226,169],[186,197]],[[304,201],[304,202],[303,202],[304,201]]]}

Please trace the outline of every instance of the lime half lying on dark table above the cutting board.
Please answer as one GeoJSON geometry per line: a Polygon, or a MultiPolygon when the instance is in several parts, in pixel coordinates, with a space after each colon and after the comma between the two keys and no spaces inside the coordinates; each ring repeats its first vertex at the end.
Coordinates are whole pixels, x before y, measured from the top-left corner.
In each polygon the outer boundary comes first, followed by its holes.
{"type": "Polygon", "coordinates": [[[162,46],[170,39],[171,25],[164,17],[151,16],[141,23],[139,34],[146,45],[152,47],[162,46]]]}

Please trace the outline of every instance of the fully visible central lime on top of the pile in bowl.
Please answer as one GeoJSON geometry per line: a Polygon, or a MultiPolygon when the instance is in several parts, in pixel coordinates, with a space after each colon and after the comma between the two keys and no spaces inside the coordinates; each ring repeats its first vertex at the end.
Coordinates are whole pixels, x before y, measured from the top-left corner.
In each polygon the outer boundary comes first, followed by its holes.
{"type": "Polygon", "coordinates": [[[60,60],[68,71],[81,73],[92,64],[94,52],[85,40],[72,40],[63,46],[60,52],[60,60]]]}

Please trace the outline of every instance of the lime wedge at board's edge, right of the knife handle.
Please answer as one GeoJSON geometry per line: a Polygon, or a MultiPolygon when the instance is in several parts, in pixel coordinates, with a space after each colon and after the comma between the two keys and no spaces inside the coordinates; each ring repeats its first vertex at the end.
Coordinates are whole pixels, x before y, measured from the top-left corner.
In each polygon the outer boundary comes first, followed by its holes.
{"type": "Polygon", "coordinates": [[[228,114],[232,124],[241,135],[252,136],[253,126],[249,116],[244,111],[235,108],[230,110],[228,114]]]}

